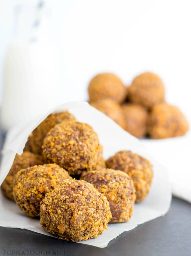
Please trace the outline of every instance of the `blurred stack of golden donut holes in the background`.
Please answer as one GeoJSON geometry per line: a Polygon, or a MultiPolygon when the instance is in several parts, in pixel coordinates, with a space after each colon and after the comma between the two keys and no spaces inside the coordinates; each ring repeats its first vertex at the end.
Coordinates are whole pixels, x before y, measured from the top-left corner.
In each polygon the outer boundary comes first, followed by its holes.
{"type": "Polygon", "coordinates": [[[98,74],[89,82],[88,94],[90,105],[138,138],[183,136],[189,128],[180,109],[165,102],[165,86],[157,74],[140,74],[128,87],[115,74],[98,74]]]}

